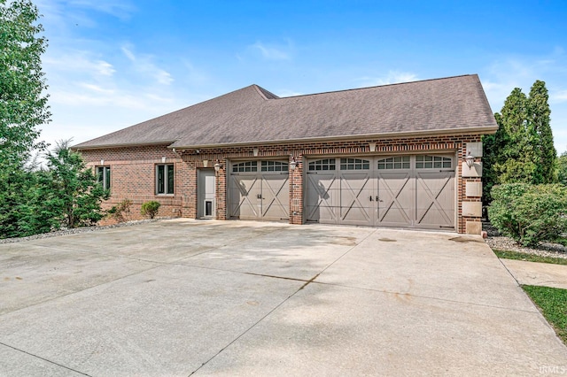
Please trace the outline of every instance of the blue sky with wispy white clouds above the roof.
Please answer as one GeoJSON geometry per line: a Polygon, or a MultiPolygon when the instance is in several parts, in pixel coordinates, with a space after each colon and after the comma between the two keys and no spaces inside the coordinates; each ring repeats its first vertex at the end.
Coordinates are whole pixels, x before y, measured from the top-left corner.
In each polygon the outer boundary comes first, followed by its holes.
{"type": "Polygon", "coordinates": [[[278,96],[478,73],[493,112],[546,81],[567,150],[567,2],[35,0],[47,142],[83,142],[252,83],[278,96]]]}

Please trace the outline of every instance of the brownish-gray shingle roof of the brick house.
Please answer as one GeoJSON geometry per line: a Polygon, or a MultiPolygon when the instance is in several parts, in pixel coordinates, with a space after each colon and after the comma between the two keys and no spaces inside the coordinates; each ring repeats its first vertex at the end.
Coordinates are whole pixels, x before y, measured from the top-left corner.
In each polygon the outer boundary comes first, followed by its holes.
{"type": "Polygon", "coordinates": [[[284,98],[251,85],[74,148],[149,143],[190,148],[496,128],[478,75],[472,74],[284,98]]]}

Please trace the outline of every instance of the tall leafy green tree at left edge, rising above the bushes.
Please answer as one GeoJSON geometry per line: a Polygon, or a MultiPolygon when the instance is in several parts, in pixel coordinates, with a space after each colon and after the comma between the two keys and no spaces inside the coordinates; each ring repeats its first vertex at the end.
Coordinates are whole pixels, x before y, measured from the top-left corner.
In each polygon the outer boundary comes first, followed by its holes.
{"type": "MultiPolygon", "coordinates": [[[[50,119],[41,55],[46,46],[37,8],[27,0],[0,0],[0,164],[19,168],[50,119]],[[6,4],[7,3],[7,4],[6,4]]],[[[4,174],[3,174],[4,175],[4,174]]],[[[0,177],[4,179],[4,177],[0,177]]]]}

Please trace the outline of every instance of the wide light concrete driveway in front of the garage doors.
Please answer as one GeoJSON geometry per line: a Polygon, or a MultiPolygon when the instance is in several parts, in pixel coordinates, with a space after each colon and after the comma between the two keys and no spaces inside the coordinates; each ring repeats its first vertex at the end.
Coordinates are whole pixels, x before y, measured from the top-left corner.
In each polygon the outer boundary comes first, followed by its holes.
{"type": "Polygon", "coordinates": [[[567,348],[477,236],[176,219],[0,244],[0,375],[534,375],[567,348]]]}

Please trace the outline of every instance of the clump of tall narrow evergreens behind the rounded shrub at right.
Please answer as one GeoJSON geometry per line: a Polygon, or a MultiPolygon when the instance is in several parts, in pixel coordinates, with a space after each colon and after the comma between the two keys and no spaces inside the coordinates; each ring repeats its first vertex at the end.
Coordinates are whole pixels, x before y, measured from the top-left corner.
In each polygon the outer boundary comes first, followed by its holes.
{"type": "Polygon", "coordinates": [[[556,151],[549,115],[548,89],[544,81],[533,83],[530,96],[514,88],[501,113],[494,114],[499,129],[495,135],[483,139],[485,204],[493,199],[490,190],[496,184],[555,181],[556,151]]]}

